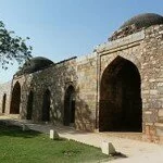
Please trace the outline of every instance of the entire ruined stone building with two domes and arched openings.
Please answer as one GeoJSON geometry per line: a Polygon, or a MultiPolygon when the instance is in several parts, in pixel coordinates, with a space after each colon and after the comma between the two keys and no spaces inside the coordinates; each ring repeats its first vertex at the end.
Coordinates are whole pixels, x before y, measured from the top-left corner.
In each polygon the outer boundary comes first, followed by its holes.
{"type": "Polygon", "coordinates": [[[0,98],[0,112],[20,118],[163,141],[163,16],[133,17],[88,55],[34,58],[0,98]]]}

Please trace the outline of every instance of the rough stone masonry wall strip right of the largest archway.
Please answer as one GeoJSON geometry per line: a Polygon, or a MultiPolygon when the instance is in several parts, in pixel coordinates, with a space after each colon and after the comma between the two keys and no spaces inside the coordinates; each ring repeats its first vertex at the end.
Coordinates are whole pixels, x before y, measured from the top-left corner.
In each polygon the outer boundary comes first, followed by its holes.
{"type": "Polygon", "coordinates": [[[141,55],[143,130],[148,139],[163,139],[163,25],[145,30],[141,55]]]}

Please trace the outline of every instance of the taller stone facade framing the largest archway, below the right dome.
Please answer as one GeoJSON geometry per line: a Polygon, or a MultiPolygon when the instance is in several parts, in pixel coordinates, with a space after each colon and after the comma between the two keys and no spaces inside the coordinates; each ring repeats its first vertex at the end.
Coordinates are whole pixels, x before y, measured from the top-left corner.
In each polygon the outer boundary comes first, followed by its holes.
{"type": "MultiPolygon", "coordinates": [[[[97,47],[99,86],[105,67],[117,57],[131,61],[141,76],[142,131],[145,139],[162,141],[163,136],[163,25],[151,26],[97,47]]],[[[99,90],[100,96],[100,90],[99,90]]]]}

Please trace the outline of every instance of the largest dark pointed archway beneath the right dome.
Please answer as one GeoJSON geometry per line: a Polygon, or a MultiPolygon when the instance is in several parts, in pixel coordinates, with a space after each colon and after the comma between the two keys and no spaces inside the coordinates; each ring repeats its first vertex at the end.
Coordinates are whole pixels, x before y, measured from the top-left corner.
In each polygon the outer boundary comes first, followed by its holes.
{"type": "Polygon", "coordinates": [[[100,85],[100,131],[141,131],[140,85],[136,65],[121,57],[104,70],[100,85]]]}

